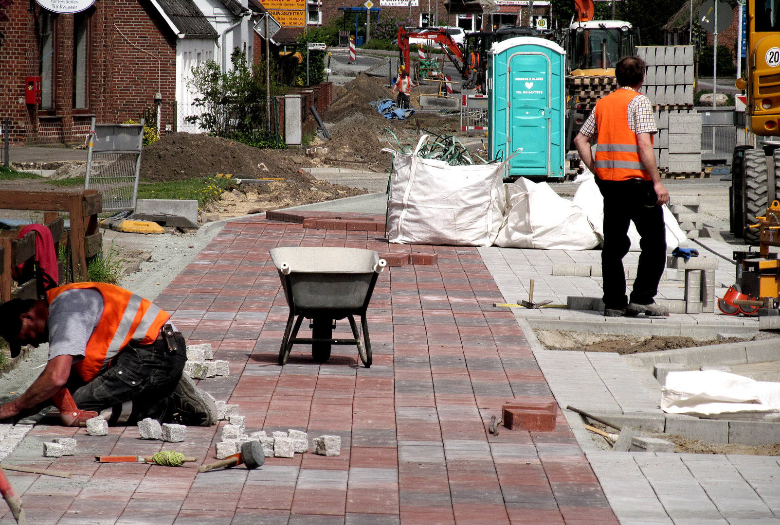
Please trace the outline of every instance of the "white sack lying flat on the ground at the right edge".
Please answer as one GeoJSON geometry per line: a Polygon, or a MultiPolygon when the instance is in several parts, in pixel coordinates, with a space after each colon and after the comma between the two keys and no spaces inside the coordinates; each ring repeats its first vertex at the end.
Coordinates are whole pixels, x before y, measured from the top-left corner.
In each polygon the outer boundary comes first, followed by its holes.
{"type": "Polygon", "coordinates": [[[755,381],[718,370],[669,372],[661,409],[699,418],[780,418],[780,382],[755,381]]]}

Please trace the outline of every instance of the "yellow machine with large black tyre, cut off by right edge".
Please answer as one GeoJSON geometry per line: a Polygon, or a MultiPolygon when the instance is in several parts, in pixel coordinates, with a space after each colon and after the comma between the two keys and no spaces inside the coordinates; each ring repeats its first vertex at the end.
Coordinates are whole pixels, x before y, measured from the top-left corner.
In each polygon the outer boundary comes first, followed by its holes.
{"type": "Polygon", "coordinates": [[[767,209],[780,199],[780,0],[748,0],[745,9],[746,71],[736,88],[747,94],[746,126],[757,140],[734,150],[730,230],[757,245],[764,231],[780,230],[760,225],[761,217],[777,217],[767,209]]]}

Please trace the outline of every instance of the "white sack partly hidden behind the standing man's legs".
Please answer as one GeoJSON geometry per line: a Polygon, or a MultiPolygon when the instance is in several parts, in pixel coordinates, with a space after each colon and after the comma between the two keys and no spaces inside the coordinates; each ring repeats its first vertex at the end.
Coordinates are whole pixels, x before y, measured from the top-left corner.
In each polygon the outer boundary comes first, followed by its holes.
{"type": "MultiPolygon", "coordinates": [[[[604,238],[604,197],[596,184],[595,176],[588,171],[587,167],[582,174],[577,175],[575,182],[580,182],[580,188],[574,194],[573,203],[580,206],[587,213],[590,224],[593,224],[594,231],[599,238],[604,238]]],[[[679,223],[669,211],[668,207],[662,206],[664,210],[664,223],[666,225],[666,251],[672,252],[674,248],[688,246],[688,238],[685,232],[680,228],[679,223]]],[[[629,223],[629,239],[631,241],[631,252],[639,252],[639,233],[633,220],[629,223]]]]}

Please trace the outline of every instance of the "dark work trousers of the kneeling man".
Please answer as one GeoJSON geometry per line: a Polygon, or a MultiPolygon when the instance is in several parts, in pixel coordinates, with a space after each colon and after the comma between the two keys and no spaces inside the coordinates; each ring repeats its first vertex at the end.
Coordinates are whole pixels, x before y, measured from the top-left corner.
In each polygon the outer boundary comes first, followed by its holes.
{"type": "Polygon", "coordinates": [[[160,337],[153,344],[128,344],[90,382],[71,372],[66,387],[76,407],[97,412],[112,409],[109,424],[133,425],[144,418],[163,418],[187,360],[184,338],[175,334],[176,351],[169,351],[160,337]]]}

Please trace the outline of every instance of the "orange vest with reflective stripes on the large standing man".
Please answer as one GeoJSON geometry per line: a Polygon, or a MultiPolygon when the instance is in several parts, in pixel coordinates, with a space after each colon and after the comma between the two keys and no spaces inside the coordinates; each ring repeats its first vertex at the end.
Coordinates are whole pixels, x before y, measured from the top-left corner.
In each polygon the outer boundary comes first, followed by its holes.
{"type": "MultiPolygon", "coordinates": [[[[596,103],[594,118],[596,174],[602,181],[626,181],[629,178],[651,180],[639,156],[636,133],[629,128],[629,103],[639,96],[634,90],[617,90],[596,103]]],[[[651,143],[653,136],[650,136],[651,143]]]]}

